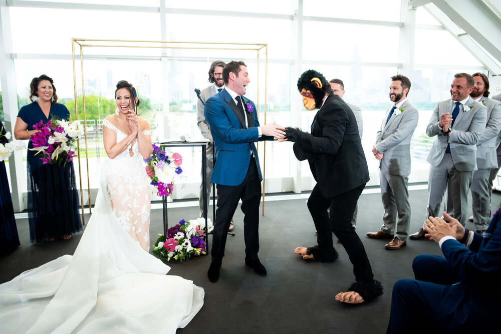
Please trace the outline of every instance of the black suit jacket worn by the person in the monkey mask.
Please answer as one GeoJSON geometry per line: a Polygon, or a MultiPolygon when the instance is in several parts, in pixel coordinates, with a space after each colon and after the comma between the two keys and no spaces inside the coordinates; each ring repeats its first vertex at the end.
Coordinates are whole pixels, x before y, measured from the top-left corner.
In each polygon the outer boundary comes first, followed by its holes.
{"type": "Polygon", "coordinates": [[[326,198],[369,181],[369,168],[358,133],[357,119],[342,98],[330,94],[312,123],[313,140],[305,151],[313,177],[326,198]]]}

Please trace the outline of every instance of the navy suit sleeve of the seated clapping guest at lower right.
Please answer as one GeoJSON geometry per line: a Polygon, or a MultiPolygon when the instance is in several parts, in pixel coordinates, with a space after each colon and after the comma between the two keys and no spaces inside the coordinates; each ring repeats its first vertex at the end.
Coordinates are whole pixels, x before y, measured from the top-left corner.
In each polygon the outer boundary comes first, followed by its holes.
{"type": "MultiPolygon", "coordinates": [[[[443,242],[442,252],[462,281],[498,284],[501,279],[501,223],[496,225],[491,235],[490,238],[482,238],[477,252],[457,240],[443,242]]],[[[478,237],[481,237],[480,234],[475,234],[475,238],[478,237]]]]}

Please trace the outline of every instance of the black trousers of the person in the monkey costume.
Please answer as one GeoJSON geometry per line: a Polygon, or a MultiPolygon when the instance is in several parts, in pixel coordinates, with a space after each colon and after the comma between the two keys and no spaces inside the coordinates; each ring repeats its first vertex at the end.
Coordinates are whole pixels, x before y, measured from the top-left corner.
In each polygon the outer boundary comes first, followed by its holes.
{"type": "Polygon", "coordinates": [[[325,198],[317,183],[308,198],[308,209],[317,228],[320,251],[334,250],[332,242],[332,232],[334,232],[350,257],[357,282],[373,283],[374,274],[364,244],[351,224],[358,197],[364,187],[365,184],[362,184],[332,198],[325,198]],[[329,207],[330,216],[327,212],[329,207]]]}

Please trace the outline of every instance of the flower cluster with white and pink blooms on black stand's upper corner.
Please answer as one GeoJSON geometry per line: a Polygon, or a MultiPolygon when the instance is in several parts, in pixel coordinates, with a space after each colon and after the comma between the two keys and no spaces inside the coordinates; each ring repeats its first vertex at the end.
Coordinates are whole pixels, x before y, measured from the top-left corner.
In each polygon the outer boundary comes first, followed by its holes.
{"type": "Polygon", "coordinates": [[[144,159],[146,162],[146,173],[151,179],[150,184],[157,188],[158,196],[170,196],[174,189],[174,177],[183,172],[180,165],[183,158],[179,153],[172,153],[170,157],[153,144],[151,156],[144,159]]]}

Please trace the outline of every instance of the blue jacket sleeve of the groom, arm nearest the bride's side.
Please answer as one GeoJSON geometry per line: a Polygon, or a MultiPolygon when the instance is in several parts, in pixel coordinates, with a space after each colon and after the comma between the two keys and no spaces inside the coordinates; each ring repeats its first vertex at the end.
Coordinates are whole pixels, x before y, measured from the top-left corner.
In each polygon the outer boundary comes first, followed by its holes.
{"type": "Polygon", "coordinates": [[[218,98],[216,95],[210,97],[205,102],[205,119],[209,123],[212,136],[216,133],[218,137],[228,143],[258,141],[258,128],[256,126],[246,129],[234,127],[226,113],[233,112],[233,110],[231,110],[228,105],[225,106],[224,104],[225,102],[222,98],[218,98]]]}

